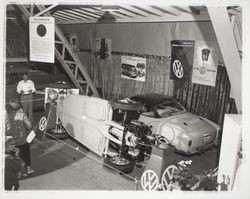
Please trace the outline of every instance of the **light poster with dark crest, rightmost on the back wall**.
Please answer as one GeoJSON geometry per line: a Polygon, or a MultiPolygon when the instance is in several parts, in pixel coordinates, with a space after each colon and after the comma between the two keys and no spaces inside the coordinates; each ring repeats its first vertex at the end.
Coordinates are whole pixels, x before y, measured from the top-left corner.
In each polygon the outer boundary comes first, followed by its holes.
{"type": "Polygon", "coordinates": [[[218,60],[218,47],[214,42],[196,41],[192,82],[215,86],[218,60]]]}

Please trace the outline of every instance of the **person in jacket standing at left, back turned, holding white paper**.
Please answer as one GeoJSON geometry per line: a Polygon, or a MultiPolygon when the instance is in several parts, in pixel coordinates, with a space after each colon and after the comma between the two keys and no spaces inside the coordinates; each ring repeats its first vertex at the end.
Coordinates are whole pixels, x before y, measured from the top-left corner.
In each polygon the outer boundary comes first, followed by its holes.
{"type": "Polygon", "coordinates": [[[26,138],[31,131],[31,122],[22,111],[20,103],[17,99],[10,99],[9,101],[10,113],[9,113],[9,134],[15,138],[15,146],[19,149],[19,156],[23,160],[25,165],[25,173],[31,174],[34,170],[31,169],[30,159],[30,145],[26,141],[26,138]]]}

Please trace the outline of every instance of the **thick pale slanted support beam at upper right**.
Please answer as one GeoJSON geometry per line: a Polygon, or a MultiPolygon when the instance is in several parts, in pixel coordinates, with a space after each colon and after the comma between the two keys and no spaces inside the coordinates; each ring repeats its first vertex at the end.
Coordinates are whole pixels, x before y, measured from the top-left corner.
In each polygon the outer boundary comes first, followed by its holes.
{"type": "Polygon", "coordinates": [[[208,7],[238,111],[242,110],[242,63],[226,7],[208,7]]]}

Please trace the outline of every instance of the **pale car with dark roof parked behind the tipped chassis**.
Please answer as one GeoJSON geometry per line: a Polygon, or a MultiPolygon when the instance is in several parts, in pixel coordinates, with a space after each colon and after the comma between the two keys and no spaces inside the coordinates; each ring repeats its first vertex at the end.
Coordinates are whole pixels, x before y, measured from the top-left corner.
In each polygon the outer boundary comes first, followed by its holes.
{"type": "Polygon", "coordinates": [[[138,120],[152,126],[153,134],[167,138],[178,152],[187,155],[200,153],[217,144],[220,127],[204,117],[187,112],[173,97],[146,94],[122,101],[143,103],[138,120]]]}

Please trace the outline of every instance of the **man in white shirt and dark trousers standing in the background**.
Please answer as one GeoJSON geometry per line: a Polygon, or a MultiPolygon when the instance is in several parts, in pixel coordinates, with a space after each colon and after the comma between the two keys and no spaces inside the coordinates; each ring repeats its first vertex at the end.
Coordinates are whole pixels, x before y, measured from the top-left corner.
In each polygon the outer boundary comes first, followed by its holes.
{"type": "Polygon", "coordinates": [[[33,121],[33,93],[36,92],[33,81],[29,80],[27,73],[23,74],[22,80],[18,82],[17,93],[21,95],[23,112],[33,121]]]}

